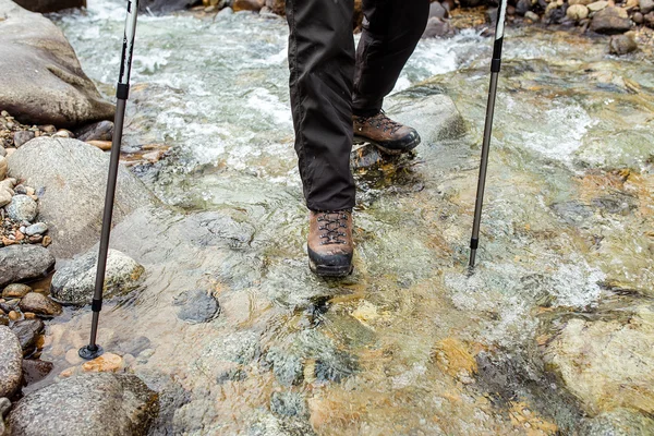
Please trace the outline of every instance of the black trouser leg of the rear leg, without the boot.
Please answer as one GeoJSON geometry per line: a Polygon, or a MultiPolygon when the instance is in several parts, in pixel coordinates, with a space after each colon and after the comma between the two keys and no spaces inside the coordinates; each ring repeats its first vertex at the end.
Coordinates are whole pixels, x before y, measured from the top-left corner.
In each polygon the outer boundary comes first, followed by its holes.
{"type": "Polygon", "coordinates": [[[363,13],[352,110],[371,117],[382,110],[413,53],[427,25],[429,0],[363,0],[363,13]]]}

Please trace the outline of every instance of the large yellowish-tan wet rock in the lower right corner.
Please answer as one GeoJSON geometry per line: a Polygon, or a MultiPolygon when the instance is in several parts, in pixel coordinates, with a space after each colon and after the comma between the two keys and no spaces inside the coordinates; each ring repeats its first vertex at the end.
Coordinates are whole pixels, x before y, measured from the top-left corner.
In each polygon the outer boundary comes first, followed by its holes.
{"type": "Polygon", "coordinates": [[[591,415],[616,408],[654,412],[654,311],[622,319],[570,319],[545,362],[591,415]]]}

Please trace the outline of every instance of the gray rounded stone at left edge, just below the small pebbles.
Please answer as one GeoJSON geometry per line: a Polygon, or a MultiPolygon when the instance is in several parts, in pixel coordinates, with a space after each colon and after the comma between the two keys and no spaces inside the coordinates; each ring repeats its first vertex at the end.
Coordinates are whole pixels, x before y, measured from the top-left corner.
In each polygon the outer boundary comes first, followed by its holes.
{"type": "Polygon", "coordinates": [[[39,245],[11,245],[0,249],[0,287],[43,277],[55,266],[55,256],[39,245]]]}

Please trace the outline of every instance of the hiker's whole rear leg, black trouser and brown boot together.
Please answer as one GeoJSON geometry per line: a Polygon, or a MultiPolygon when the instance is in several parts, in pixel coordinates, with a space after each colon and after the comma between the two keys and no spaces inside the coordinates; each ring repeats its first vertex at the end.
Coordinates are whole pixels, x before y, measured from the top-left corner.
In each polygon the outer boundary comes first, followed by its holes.
{"type": "Polygon", "coordinates": [[[354,141],[391,154],[409,152],[420,135],[386,117],[382,104],[425,29],[429,0],[363,0],[363,13],[352,97],[354,141]]]}

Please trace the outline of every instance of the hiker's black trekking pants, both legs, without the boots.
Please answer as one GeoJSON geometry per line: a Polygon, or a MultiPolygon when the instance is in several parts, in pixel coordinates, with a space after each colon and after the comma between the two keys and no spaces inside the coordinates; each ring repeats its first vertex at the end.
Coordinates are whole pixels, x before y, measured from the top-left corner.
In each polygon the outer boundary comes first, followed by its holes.
{"type": "Polygon", "coordinates": [[[286,0],[295,152],[306,206],[354,206],[352,113],[375,114],[427,23],[429,0],[363,0],[363,34],[352,37],[353,0],[286,0]]]}

